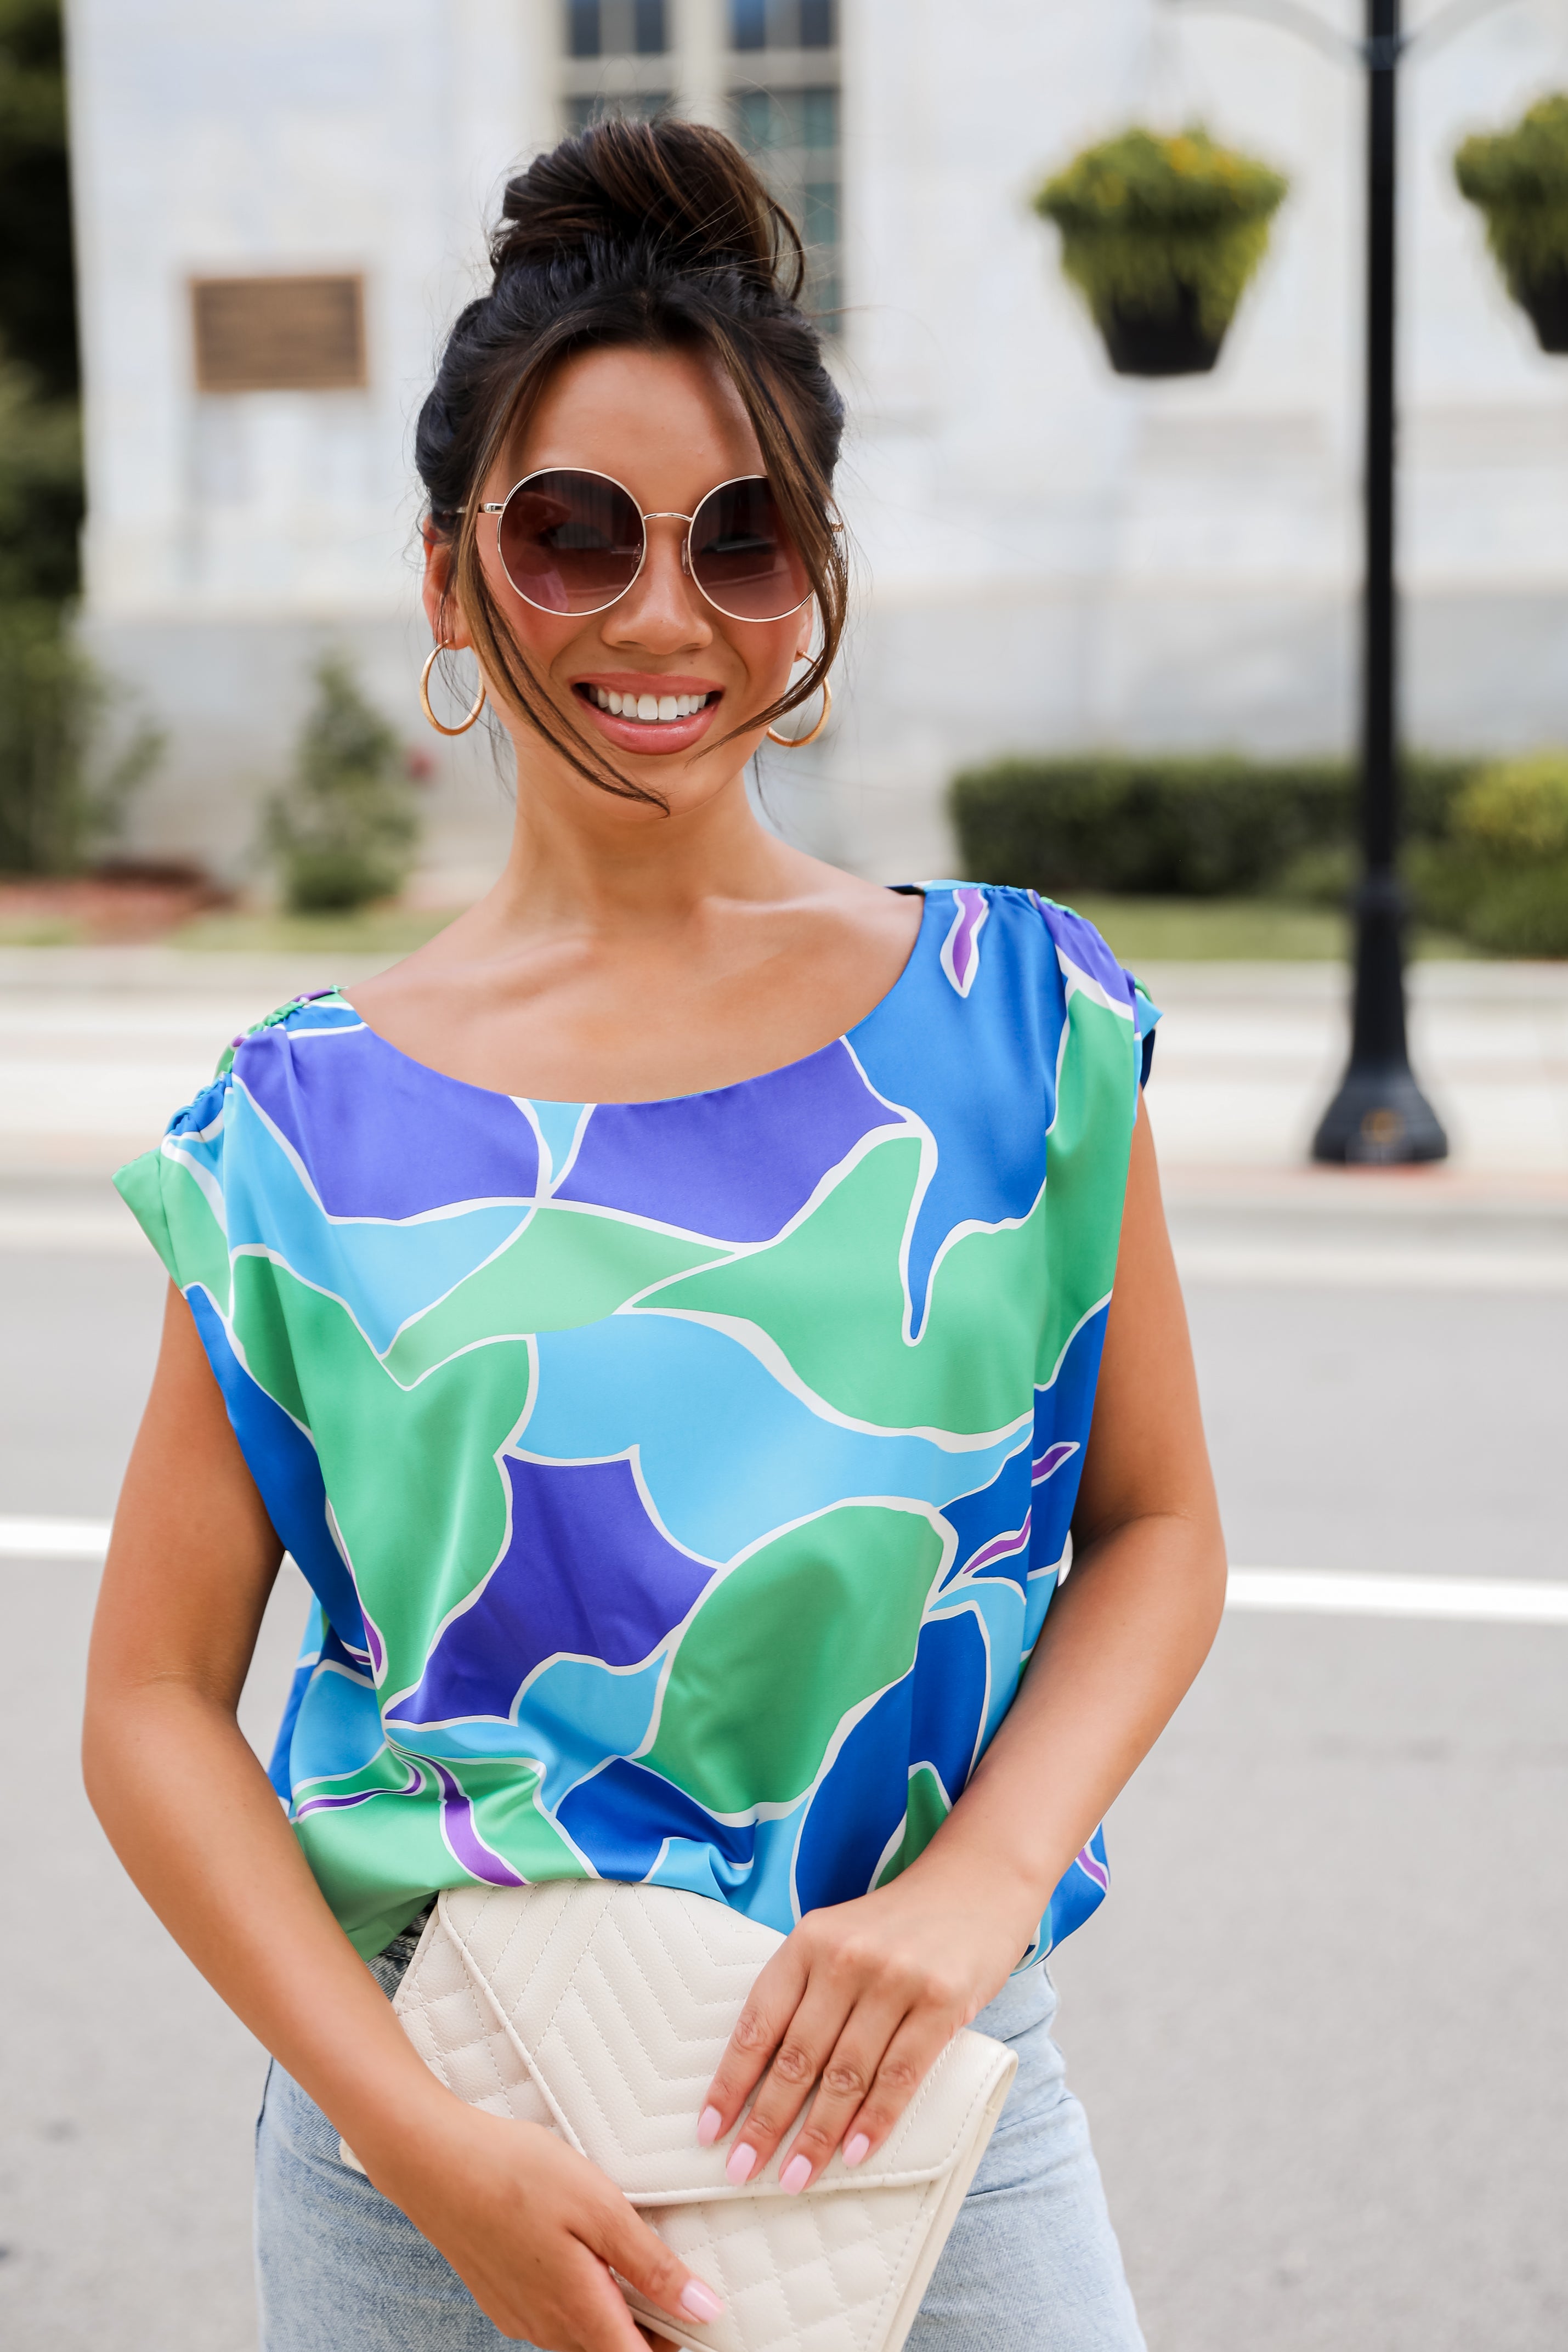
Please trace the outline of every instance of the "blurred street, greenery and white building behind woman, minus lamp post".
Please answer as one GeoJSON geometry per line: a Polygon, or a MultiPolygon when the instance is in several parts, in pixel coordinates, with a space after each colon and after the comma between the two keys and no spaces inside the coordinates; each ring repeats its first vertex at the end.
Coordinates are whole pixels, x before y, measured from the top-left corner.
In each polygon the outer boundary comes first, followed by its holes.
{"type": "MultiPolygon", "coordinates": [[[[858,614],[769,821],[1065,896],[1166,1014],[1232,1609],[1053,1962],[1150,2347],[1568,2340],[1568,0],[1408,19],[1403,870],[1450,1157],[1331,1171],[1356,0],[0,0],[7,2340],[256,2340],[263,2060],[75,1778],[162,1296],[108,1176],[505,851],[494,739],[418,713],[411,423],[508,172],[607,111],[757,155],[849,402],[858,614]]],[[[259,1745],[301,1618],[289,1566],[259,1745]]]]}

